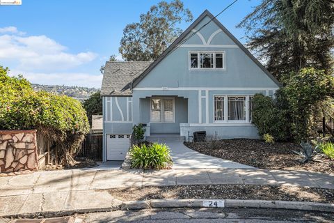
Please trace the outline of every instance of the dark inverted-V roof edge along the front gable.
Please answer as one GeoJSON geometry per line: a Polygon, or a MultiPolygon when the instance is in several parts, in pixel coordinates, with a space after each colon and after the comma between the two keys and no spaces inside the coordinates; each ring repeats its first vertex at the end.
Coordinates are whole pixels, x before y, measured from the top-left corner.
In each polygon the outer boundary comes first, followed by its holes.
{"type": "Polygon", "coordinates": [[[225,26],[223,26],[223,24],[221,24],[221,22],[219,22],[214,15],[212,15],[208,10],[205,10],[200,17],[197,18],[197,20],[195,20],[195,22],[193,22],[193,24],[191,24],[188,29],[186,29],[159,57],[157,60],[155,60],[153,63],[150,64],[150,66],[148,66],[148,68],[146,68],[141,75],[138,75],[138,77],[136,77],[136,79],[134,79],[133,84],[132,84],[132,88],[134,88],[139,82],[141,82],[141,80],[148,75],[148,73],[153,70],[153,68],[155,66],[158,65],[158,63],[160,63],[160,61],[162,61],[170,52],[173,51],[173,49],[175,49],[175,47],[178,47],[180,43],[182,43],[182,40],[189,35],[189,33],[191,33],[191,31],[206,17],[208,16],[212,22],[214,22],[224,33],[226,33],[226,35],[228,35],[229,38],[231,38],[231,40],[257,65],[259,66],[259,68],[265,73],[267,74],[267,76],[273,80],[273,82],[275,82],[278,86],[281,86],[280,82],[278,82],[278,80],[273,77],[273,75],[271,75],[271,73],[264,68],[264,66],[262,65],[262,63],[260,63],[260,61],[258,61],[255,56],[253,56],[253,54],[251,54],[248,49],[246,49],[246,47],[244,47],[244,45],[242,45],[239,40],[237,40],[237,38],[235,38],[232,33],[230,33],[230,31],[228,31],[228,29],[225,28],[225,26]]]}

